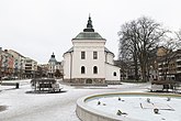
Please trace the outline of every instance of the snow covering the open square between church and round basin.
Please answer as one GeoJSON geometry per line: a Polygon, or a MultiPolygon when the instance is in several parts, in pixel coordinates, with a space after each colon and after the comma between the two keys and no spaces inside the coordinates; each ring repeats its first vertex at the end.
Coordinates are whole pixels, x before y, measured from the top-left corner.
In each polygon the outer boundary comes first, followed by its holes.
{"type": "Polygon", "coordinates": [[[118,86],[70,87],[57,94],[30,94],[30,79],[13,80],[20,82],[20,89],[13,86],[0,86],[0,106],[8,109],[0,112],[0,121],[80,121],[76,116],[78,98],[114,91],[145,91],[149,84],[123,84],[118,86]]]}

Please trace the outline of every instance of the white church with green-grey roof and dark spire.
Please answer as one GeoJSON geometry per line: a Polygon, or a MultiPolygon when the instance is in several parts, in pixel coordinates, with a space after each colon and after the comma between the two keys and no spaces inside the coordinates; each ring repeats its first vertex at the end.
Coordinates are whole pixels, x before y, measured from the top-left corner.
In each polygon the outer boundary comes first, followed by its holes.
{"type": "Polygon", "coordinates": [[[114,54],[105,47],[106,40],[94,32],[89,16],[87,29],[71,40],[72,47],[64,54],[64,81],[73,84],[118,84],[120,67],[114,54]]]}

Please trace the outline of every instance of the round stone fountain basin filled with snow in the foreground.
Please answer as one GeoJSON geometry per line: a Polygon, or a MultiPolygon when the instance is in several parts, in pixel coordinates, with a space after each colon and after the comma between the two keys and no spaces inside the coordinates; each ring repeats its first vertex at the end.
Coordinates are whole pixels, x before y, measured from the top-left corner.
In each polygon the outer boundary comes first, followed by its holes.
{"type": "Polygon", "coordinates": [[[76,112],[82,121],[179,121],[180,99],[170,94],[100,94],[78,99],[76,112]],[[117,114],[118,110],[125,114],[117,114]]]}

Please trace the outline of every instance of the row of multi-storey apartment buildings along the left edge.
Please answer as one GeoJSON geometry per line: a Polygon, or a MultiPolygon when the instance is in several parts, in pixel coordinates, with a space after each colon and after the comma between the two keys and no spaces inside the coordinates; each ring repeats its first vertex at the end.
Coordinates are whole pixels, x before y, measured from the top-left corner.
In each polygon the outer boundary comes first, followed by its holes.
{"type": "Polygon", "coordinates": [[[37,62],[29,57],[24,57],[13,50],[4,50],[0,47],[0,78],[16,77],[32,78],[37,75],[37,62]]]}

